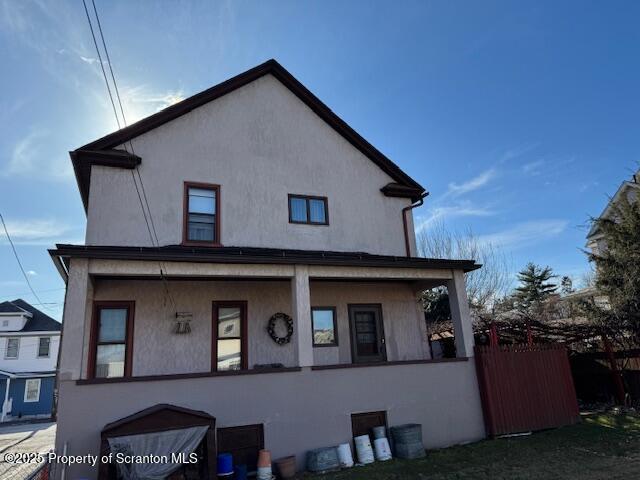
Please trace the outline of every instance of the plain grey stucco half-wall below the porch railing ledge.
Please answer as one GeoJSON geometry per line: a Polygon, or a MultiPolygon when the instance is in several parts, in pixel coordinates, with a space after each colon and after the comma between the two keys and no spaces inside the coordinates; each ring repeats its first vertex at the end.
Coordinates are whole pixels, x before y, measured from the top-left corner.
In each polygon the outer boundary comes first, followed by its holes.
{"type": "MultiPolygon", "coordinates": [[[[306,451],[351,439],[352,413],[385,410],[389,425],[421,423],[428,448],[485,435],[472,361],[111,385],[65,381],[61,395],[56,449],[66,444],[70,455],[96,454],[105,424],[156,403],[204,410],[218,427],[262,423],[273,457],[294,454],[299,468],[306,451]]],[[[86,465],[68,474],[96,478],[86,465]]]]}

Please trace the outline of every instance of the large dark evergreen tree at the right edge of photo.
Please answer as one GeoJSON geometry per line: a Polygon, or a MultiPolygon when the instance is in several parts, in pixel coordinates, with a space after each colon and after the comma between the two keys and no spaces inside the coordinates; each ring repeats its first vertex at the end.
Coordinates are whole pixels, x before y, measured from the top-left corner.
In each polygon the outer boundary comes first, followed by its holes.
{"type": "MultiPolygon", "coordinates": [[[[605,301],[584,302],[589,317],[618,344],[640,342],[640,202],[623,199],[613,215],[593,219],[602,251],[589,254],[596,265],[595,287],[605,301]]],[[[621,345],[622,346],[622,345],[621,345]]]]}

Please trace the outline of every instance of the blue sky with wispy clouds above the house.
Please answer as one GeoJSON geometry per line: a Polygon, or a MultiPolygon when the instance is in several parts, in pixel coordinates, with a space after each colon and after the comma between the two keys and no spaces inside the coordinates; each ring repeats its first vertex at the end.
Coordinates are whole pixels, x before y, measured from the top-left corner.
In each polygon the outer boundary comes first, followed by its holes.
{"type": "MultiPolygon", "coordinates": [[[[640,160],[640,3],[96,0],[128,120],[269,58],[471,228],[578,279],[584,225],[640,160]]],[[[0,212],[60,318],[80,243],[67,152],[116,128],[80,1],[0,0],[0,212]]],[[[0,240],[0,300],[28,293],[0,240]]]]}

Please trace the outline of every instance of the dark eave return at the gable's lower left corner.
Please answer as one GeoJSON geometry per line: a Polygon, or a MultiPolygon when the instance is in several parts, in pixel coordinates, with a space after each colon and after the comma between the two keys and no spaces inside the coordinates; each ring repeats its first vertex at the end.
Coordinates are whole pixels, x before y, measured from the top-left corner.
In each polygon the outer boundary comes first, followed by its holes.
{"type": "Polygon", "coordinates": [[[89,187],[91,185],[91,167],[101,165],[103,167],[128,168],[133,169],[140,165],[142,159],[125,150],[87,150],[78,149],[69,152],[73,171],[76,174],[76,181],[80,189],[80,196],[84,204],[85,211],[89,203],[89,187]]]}

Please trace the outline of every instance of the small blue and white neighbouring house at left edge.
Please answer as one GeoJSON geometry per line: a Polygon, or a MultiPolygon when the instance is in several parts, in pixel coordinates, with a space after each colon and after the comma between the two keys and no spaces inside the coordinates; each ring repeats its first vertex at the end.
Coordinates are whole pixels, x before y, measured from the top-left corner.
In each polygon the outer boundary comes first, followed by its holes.
{"type": "Polygon", "coordinates": [[[22,299],[0,303],[0,421],[51,416],[60,330],[22,299]]]}

